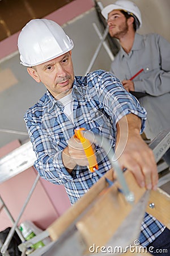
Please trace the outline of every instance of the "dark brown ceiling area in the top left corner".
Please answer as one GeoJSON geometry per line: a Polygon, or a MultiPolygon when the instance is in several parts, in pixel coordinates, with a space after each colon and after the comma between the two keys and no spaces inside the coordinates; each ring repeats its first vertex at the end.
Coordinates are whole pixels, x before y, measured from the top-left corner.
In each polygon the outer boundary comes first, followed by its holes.
{"type": "Polygon", "coordinates": [[[15,34],[31,19],[43,18],[74,0],[0,0],[0,41],[15,34]]]}

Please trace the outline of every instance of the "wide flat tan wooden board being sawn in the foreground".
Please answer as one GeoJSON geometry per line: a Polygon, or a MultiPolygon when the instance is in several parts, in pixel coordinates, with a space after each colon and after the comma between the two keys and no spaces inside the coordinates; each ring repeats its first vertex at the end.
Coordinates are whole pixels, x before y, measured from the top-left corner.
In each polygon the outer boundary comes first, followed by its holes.
{"type": "MultiPolygon", "coordinates": [[[[133,205],[129,204],[124,195],[118,192],[117,188],[120,185],[116,182],[103,195],[99,195],[96,203],[77,222],[76,227],[86,241],[87,247],[90,247],[92,243],[96,246],[104,246],[145,193],[145,188],[138,186],[133,174],[126,172],[125,179],[130,191],[135,195],[133,205]]],[[[145,212],[143,216],[144,214],[145,212]]],[[[127,239],[129,240],[129,237],[127,239]]]]}

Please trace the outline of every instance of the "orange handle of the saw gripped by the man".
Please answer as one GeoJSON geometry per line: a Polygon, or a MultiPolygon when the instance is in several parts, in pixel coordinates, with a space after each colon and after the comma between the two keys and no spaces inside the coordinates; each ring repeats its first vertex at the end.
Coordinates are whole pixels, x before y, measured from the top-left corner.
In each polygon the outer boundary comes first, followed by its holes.
{"type": "Polygon", "coordinates": [[[85,131],[84,128],[79,128],[79,129],[75,129],[74,130],[74,137],[79,139],[79,141],[82,143],[84,152],[86,154],[88,163],[89,163],[89,170],[91,172],[94,172],[95,169],[98,170],[98,164],[97,164],[97,160],[96,160],[96,156],[94,154],[94,150],[91,146],[91,142],[88,141],[88,139],[84,138],[84,134],[82,133],[82,131],[85,131]]]}

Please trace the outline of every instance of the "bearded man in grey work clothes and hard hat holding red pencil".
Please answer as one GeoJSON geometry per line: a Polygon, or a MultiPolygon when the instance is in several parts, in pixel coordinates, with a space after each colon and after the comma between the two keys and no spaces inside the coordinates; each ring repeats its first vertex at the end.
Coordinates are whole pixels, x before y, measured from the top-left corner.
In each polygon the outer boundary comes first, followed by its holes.
{"type": "MultiPolygon", "coordinates": [[[[111,72],[128,92],[139,97],[147,111],[145,135],[154,139],[160,131],[170,129],[170,44],[158,34],[135,32],[142,26],[142,18],[131,1],[118,0],[101,13],[107,19],[109,34],[121,45],[111,72]]],[[[170,149],[164,159],[170,166],[170,149]]]]}

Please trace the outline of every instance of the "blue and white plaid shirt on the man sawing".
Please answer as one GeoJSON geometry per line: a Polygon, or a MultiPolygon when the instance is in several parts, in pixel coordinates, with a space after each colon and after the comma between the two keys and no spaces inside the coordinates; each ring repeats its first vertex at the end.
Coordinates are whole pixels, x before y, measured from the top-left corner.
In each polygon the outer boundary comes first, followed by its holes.
{"type": "MultiPolygon", "coordinates": [[[[44,179],[65,185],[71,204],[74,204],[99,180],[99,176],[91,173],[86,167],[76,166],[69,174],[63,166],[62,151],[74,135],[74,129],[84,127],[104,136],[114,148],[116,123],[124,115],[133,113],[142,119],[143,131],[146,112],[139,102],[126,92],[120,80],[102,70],[91,72],[84,77],[76,76],[71,93],[74,123],[63,113],[62,103],[55,100],[48,91],[39,102],[28,109],[24,119],[37,156],[36,170],[44,179]]],[[[105,174],[111,169],[111,163],[103,148],[96,146],[96,157],[99,171],[105,174]]],[[[148,214],[142,226],[145,226],[145,229],[142,230],[141,242],[145,246],[164,229],[148,214]]]]}

